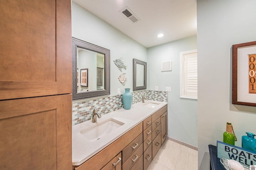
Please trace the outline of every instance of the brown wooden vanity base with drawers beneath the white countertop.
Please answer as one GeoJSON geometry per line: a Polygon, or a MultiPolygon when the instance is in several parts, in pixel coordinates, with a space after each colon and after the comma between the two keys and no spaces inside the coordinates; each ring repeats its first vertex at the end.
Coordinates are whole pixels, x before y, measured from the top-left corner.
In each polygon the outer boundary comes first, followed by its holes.
{"type": "Polygon", "coordinates": [[[122,162],[122,170],[146,170],[162,145],[162,135],[167,135],[166,125],[167,106],[164,106],[86,162],[73,168],[112,170],[113,162],[119,161],[122,162]],[[162,131],[165,134],[161,133],[162,131]],[[116,156],[117,154],[119,156],[116,156]]]}

